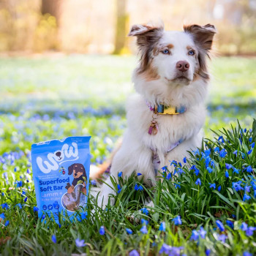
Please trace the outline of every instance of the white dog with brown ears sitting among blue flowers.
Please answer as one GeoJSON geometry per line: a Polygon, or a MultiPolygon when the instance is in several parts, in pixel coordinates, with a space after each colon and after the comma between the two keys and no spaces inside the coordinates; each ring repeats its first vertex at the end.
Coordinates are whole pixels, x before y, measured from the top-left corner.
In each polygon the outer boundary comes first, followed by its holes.
{"type": "MultiPolygon", "coordinates": [[[[113,156],[111,176],[117,179],[119,172],[130,176],[135,171],[152,186],[157,170],[200,148],[210,80],[206,59],[215,34],[211,24],[184,25],[184,31],[132,26],[129,36],[137,37],[140,54],[132,75],[136,94],[127,102],[127,130],[113,156]]],[[[99,192],[103,208],[110,193],[116,193],[111,186],[108,178],[99,192]]]]}

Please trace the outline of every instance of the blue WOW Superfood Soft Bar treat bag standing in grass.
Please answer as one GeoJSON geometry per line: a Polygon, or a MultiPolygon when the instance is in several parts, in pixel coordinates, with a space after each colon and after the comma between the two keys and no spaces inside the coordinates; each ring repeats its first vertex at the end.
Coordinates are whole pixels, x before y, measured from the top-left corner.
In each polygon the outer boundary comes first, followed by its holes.
{"type": "Polygon", "coordinates": [[[89,137],[49,140],[31,146],[34,187],[39,217],[74,214],[86,206],[89,191],[89,137]]]}

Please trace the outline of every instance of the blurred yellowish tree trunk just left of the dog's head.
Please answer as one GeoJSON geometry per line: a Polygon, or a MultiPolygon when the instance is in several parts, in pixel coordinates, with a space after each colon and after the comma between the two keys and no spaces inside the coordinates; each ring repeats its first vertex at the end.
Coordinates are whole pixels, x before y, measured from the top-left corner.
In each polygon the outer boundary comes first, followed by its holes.
{"type": "Polygon", "coordinates": [[[113,54],[120,54],[124,51],[129,15],[127,14],[127,0],[116,0],[116,37],[115,50],[113,54]]]}

